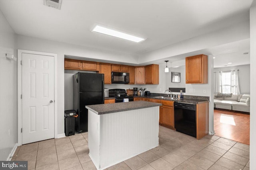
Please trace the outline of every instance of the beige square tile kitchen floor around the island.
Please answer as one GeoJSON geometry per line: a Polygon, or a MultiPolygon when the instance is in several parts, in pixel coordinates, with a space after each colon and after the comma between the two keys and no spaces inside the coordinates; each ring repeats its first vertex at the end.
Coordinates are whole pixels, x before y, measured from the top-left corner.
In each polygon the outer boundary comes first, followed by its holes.
{"type": "MultiPolygon", "coordinates": [[[[159,144],[108,170],[249,170],[249,146],[216,135],[196,140],[159,126],[159,144]]],[[[22,145],[12,160],[28,160],[28,170],[96,170],[88,153],[82,133],[22,145]]]]}

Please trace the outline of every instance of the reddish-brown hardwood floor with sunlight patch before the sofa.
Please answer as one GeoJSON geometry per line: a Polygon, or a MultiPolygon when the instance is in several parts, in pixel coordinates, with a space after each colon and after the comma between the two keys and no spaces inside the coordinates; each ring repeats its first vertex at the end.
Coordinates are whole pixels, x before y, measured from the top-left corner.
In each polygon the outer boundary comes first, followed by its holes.
{"type": "Polygon", "coordinates": [[[215,135],[250,145],[250,115],[214,109],[215,135]]]}

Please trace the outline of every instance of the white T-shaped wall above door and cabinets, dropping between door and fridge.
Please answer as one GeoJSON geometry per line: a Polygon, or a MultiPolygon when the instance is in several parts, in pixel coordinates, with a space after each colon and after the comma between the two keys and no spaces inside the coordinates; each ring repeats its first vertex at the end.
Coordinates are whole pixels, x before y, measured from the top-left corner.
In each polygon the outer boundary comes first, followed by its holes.
{"type": "Polygon", "coordinates": [[[55,53],[58,55],[57,63],[57,84],[58,84],[58,135],[64,133],[64,55],[87,57],[107,61],[117,61],[122,63],[138,63],[138,58],[129,54],[114,53],[99,49],[92,49],[78,45],[60,43],[46,39],[17,35],[17,49],[55,53]]]}

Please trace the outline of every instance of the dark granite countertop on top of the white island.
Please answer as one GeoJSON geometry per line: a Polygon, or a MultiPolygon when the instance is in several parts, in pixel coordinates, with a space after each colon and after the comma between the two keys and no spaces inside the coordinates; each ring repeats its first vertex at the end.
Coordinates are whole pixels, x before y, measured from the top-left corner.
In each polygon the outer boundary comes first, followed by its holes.
{"type": "Polygon", "coordinates": [[[113,104],[88,105],[86,106],[86,109],[89,109],[98,115],[102,115],[102,114],[115,113],[120,111],[156,107],[161,105],[162,104],[160,103],[137,101],[137,102],[121,102],[121,103],[113,103],[113,104]]]}

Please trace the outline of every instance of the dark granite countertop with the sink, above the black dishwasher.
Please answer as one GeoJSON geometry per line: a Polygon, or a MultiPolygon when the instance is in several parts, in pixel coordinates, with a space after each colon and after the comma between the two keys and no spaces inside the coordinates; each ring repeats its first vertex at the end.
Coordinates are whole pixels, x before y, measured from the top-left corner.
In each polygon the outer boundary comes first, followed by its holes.
{"type": "Polygon", "coordinates": [[[168,101],[174,101],[174,102],[186,103],[186,104],[200,104],[204,102],[209,102],[209,100],[198,100],[198,99],[192,99],[192,98],[171,99],[166,96],[164,98],[155,98],[154,96],[134,96],[134,98],[150,98],[150,99],[158,99],[158,100],[168,100],[168,101]]]}

